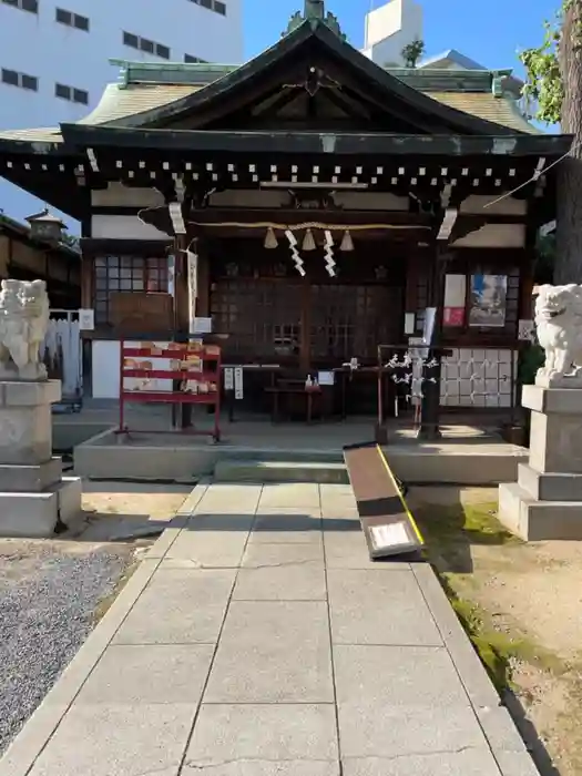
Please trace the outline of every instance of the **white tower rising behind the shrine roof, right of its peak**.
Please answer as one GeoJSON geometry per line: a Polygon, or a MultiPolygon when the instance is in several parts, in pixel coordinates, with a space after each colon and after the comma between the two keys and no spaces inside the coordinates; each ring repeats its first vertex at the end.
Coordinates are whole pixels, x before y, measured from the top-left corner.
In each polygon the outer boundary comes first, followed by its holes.
{"type": "Polygon", "coordinates": [[[379,65],[401,65],[405,45],[422,37],[422,8],[415,0],[389,0],[366,14],[363,53],[379,65]]]}

